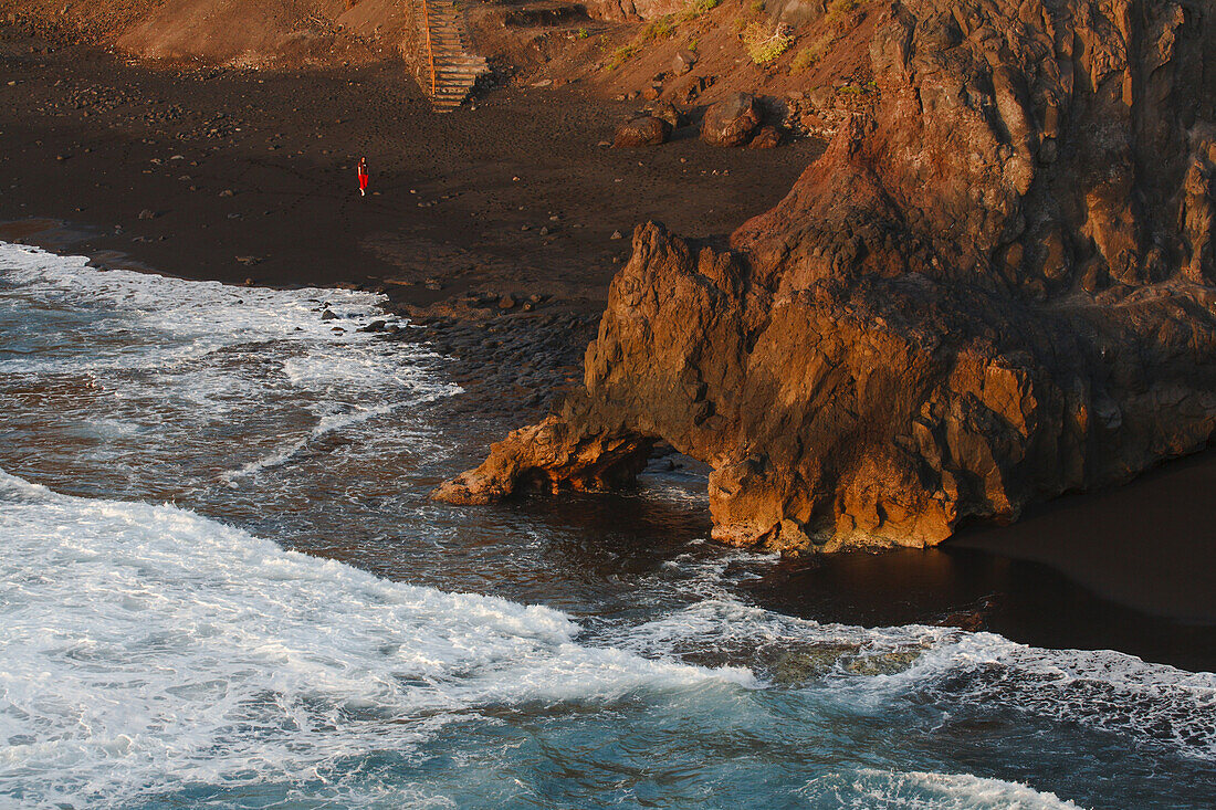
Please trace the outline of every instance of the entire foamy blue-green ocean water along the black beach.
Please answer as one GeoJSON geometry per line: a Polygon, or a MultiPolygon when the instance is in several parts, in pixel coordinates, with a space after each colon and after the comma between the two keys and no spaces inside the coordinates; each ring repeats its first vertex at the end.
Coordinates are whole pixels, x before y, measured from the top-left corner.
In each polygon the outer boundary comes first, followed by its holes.
{"type": "Polygon", "coordinates": [[[696,476],[428,502],[378,306],[0,244],[0,806],[1216,806],[1211,673],[769,609],[696,476]]]}

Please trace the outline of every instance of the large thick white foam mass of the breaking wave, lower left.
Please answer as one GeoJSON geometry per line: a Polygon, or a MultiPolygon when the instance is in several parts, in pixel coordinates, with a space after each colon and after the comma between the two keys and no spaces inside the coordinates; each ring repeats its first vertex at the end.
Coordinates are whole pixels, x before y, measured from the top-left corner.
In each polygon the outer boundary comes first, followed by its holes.
{"type": "Polygon", "coordinates": [[[749,686],[578,641],[171,506],[0,473],[0,795],[117,806],[180,784],[340,780],[492,705],[749,686]]]}

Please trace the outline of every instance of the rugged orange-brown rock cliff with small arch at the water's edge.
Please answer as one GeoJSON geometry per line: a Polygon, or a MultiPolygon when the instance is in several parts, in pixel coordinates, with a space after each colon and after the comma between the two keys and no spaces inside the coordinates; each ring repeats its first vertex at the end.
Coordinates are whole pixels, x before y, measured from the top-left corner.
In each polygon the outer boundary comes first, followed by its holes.
{"type": "Polygon", "coordinates": [[[435,496],[709,462],[714,534],[927,545],[1216,432],[1216,9],[900,0],[873,114],[731,249],[654,224],[585,390],[435,496]]]}

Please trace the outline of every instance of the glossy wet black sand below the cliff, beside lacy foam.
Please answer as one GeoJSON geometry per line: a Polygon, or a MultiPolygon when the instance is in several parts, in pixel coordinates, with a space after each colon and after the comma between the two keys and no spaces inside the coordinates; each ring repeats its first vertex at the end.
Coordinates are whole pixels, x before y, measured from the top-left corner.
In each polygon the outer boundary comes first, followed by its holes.
{"type": "MultiPolygon", "coordinates": [[[[984,550],[947,542],[783,564],[751,596],[769,609],[817,621],[944,624],[1036,647],[1118,649],[1190,671],[1216,670],[1216,624],[1138,609],[1100,575],[1074,576],[1070,561],[1019,557],[1018,538],[1003,540],[984,550]]],[[[1118,535],[1104,540],[1108,553],[1126,544],[1118,535]]],[[[1169,601],[1159,604],[1172,609],[1169,601]]]]}

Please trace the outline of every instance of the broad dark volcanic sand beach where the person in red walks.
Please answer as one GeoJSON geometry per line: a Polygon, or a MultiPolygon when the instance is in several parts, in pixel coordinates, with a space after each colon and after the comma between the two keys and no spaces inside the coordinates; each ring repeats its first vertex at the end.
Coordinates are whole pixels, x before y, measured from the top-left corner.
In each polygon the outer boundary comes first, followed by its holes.
{"type": "Polygon", "coordinates": [[[715,150],[686,130],[663,148],[609,150],[597,144],[632,107],[568,89],[494,91],[475,111],[437,116],[390,63],[153,71],[89,49],[46,52],[12,29],[0,60],[0,220],[88,224],[73,249],[188,277],[395,280],[393,297],[413,304],[475,288],[598,310],[635,225],[725,236],[784,196],[820,148],[715,150]]]}

